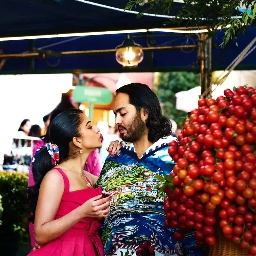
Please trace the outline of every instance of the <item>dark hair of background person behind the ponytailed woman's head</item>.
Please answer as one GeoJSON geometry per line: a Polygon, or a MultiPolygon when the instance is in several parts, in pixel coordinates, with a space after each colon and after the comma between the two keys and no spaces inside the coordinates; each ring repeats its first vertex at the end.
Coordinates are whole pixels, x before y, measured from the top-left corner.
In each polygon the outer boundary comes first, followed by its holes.
{"type": "MultiPolygon", "coordinates": [[[[65,111],[67,109],[76,109],[76,108],[70,102],[70,95],[68,93],[62,93],[60,103],[51,112],[50,125],[51,125],[52,120],[54,119],[55,116],[58,116],[61,112],[65,111]]],[[[49,133],[50,125],[47,128],[46,134],[45,134],[45,136],[43,138],[43,140],[45,142],[50,142],[50,133],[49,133]]]]}

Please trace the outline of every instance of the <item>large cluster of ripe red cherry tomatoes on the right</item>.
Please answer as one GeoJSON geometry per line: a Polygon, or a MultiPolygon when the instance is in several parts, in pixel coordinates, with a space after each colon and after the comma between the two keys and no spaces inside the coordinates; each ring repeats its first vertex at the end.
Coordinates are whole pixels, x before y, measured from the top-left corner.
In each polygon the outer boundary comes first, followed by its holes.
{"type": "Polygon", "coordinates": [[[177,163],[165,189],[165,227],[196,230],[197,245],[214,245],[218,220],[224,235],[256,255],[256,90],[227,89],[199,99],[186,119],[179,145],[170,142],[177,163]],[[219,215],[219,216],[217,216],[219,215]]]}

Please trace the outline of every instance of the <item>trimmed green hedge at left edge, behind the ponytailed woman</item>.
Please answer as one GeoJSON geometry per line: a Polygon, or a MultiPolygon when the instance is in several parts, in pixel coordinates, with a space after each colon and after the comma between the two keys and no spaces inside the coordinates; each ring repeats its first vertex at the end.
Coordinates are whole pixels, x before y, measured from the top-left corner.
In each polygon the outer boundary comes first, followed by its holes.
{"type": "Polygon", "coordinates": [[[19,243],[29,242],[27,186],[27,174],[0,172],[0,194],[3,208],[0,244],[8,255],[12,255],[8,250],[14,251],[14,247],[19,243]]]}

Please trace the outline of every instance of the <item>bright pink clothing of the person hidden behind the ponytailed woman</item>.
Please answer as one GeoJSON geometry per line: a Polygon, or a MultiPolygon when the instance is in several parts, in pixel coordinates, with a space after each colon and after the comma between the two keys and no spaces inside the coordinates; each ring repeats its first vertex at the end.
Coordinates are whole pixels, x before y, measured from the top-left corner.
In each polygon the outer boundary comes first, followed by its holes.
{"type": "MultiPolygon", "coordinates": [[[[32,149],[32,158],[34,157],[36,150],[42,146],[45,145],[45,141],[43,140],[37,140],[34,141],[34,145],[33,145],[33,149],[32,149]]],[[[84,170],[86,170],[87,172],[92,173],[95,176],[99,176],[100,172],[101,172],[101,166],[100,166],[100,156],[99,156],[99,149],[95,149],[92,151],[92,153],[89,155],[87,162],[84,166],[84,170]]],[[[33,173],[32,173],[32,161],[30,163],[29,166],[29,173],[28,173],[28,187],[30,186],[34,186],[35,185],[35,180],[33,177],[33,173]]],[[[31,246],[34,247],[35,246],[35,238],[34,238],[34,224],[33,223],[29,223],[29,235],[30,235],[30,242],[31,242],[31,246]]]]}

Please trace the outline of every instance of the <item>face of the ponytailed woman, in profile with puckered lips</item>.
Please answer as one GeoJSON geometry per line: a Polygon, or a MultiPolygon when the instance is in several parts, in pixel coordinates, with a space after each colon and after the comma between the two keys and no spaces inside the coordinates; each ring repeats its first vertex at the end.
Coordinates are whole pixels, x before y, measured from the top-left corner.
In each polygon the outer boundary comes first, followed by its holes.
{"type": "Polygon", "coordinates": [[[82,115],[82,124],[80,126],[80,132],[82,134],[82,145],[86,149],[100,148],[102,146],[102,135],[100,129],[97,126],[91,124],[90,119],[82,115]]]}

